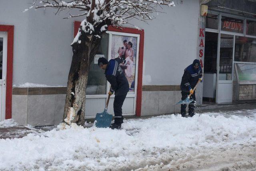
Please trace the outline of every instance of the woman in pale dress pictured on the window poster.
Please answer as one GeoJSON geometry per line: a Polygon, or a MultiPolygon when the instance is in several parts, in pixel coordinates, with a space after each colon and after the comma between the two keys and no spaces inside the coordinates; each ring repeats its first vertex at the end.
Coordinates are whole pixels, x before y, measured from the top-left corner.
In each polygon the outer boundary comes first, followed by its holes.
{"type": "Polygon", "coordinates": [[[125,61],[126,61],[126,66],[127,69],[125,70],[126,76],[131,77],[132,76],[132,66],[134,63],[134,50],[132,48],[132,42],[128,42],[128,49],[125,51],[125,61]]]}

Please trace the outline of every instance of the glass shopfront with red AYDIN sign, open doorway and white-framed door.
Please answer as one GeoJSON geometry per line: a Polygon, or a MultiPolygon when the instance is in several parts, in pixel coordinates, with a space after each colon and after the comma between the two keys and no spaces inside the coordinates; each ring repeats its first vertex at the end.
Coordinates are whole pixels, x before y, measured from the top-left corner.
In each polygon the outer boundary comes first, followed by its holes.
{"type": "Polygon", "coordinates": [[[255,19],[207,14],[203,103],[256,99],[255,30],[255,19]]]}

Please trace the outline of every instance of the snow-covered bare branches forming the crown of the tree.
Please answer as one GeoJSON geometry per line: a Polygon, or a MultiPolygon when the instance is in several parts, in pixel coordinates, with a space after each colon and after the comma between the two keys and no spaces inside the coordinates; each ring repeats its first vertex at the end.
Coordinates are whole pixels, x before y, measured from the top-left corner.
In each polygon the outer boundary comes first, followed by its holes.
{"type": "Polygon", "coordinates": [[[143,22],[152,20],[153,14],[160,12],[158,7],[162,6],[175,5],[173,0],[33,0],[30,8],[56,8],[56,14],[64,10],[77,9],[78,14],[69,14],[66,18],[85,16],[80,31],[101,35],[106,31],[102,29],[104,25],[131,24],[133,18],[143,22]]]}

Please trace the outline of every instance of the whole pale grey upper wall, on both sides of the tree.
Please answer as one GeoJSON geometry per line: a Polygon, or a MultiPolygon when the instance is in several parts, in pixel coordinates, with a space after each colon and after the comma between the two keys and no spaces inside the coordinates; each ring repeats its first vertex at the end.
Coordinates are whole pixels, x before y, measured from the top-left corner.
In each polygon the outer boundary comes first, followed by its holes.
{"type": "MultiPolygon", "coordinates": [[[[0,24],[14,25],[13,84],[66,85],[74,19],[50,9],[22,12],[29,2],[0,0],[0,24]]],[[[199,7],[198,0],[183,0],[164,7],[166,13],[150,25],[134,21],[145,31],[143,85],[180,84],[184,68],[196,59],[199,7]]]]}

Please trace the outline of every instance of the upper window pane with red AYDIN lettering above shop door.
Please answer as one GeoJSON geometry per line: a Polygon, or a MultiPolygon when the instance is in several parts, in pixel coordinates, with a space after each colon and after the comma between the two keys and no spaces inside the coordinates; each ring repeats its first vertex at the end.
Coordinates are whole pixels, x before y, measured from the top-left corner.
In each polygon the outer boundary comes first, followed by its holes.
{"type": "Polygon", "coordinates": [[[222,16],[221,18],[221,30],[227,32],[243,33],[244,20],[222,16]]]}

